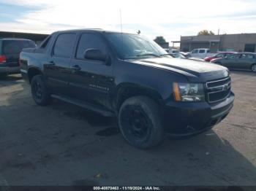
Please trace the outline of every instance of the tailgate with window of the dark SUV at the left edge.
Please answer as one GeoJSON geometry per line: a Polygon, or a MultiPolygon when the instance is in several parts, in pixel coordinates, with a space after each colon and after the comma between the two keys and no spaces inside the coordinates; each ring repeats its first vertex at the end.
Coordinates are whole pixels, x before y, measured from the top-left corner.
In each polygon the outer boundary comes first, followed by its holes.
{"type": "Polygon", "coordinates": [[[36,45],[29,40],[15,40],[8,39],[2,42],[2,54],[7,59],[7,66],[17,67],[19,66],[18,60],[20,52],[23,48],[34,48],[36,45]]]}

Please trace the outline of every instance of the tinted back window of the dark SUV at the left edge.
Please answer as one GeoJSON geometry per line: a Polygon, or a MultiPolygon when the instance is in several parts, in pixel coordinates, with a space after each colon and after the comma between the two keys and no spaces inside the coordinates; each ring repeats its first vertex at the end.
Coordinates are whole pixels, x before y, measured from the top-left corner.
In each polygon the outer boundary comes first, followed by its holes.
{"type": "Polygon", "coordinates": [[[34,48],[36,45],[29,40],[4,40],[3,54],[19,54],[23,48],[34,48]]]}

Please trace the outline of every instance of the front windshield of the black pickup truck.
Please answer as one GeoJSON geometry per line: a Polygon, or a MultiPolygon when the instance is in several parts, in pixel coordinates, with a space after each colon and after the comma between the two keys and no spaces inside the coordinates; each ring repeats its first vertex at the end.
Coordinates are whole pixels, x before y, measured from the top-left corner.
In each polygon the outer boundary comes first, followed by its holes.
{"type": "Polygon", "coordinates": [[[160,57],[166,55],[165,50],[145,36],[138,34],[106,34],[111,46],[121,59],[135,59],[144,57],[160,57]]]}

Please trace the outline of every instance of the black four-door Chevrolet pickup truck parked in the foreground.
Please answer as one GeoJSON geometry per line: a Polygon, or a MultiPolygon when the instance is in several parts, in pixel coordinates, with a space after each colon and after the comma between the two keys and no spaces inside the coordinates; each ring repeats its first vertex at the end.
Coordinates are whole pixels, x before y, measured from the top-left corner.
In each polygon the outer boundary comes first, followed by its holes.
{"type": "Polygon", "coordinates": [[[23,50],[20,67],[38,105],[57,98],[117,117],[124,139],[142,149],[167,133],[211,129],[234,101],[225,67],[173,58],[138,34],[58,31],[23,50]]]}

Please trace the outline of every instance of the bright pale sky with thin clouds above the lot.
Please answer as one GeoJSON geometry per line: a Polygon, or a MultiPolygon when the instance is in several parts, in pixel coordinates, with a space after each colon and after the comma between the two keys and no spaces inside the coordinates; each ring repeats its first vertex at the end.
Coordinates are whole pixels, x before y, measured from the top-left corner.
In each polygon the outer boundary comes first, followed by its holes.
{"type": "Polygon", "coordinates": [[[167,42],[196,35],[256,33],[255,0],[0,0],[0,31],[50,34],[103,28],[167,42]],[[122,23],[122,25],[121,25],[122,23]]]}

